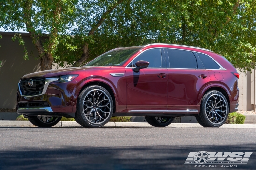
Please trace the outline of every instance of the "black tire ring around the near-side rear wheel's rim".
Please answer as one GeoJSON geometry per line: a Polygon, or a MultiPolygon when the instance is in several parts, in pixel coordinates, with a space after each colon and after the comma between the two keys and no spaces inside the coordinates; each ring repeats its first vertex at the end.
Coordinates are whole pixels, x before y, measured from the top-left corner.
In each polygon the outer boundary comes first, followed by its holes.
{"type": "Polygon", "coordinates": [[[227,101],[226,97],[225,97],[221,92],[219,92],[219,91],[210,91],[209,93],[207,93],[207,94],[205,95],[205,97],[204,97],[204,100],[203,100],[202,103],[201,103],[201,107],[202,107],[201,110],[202,110],[203,117],[205,118],[205,120],[207,120],[207,123],[208,123],[211,127],[220,127],[220,126],[222,126],[222,125],[226,122],[226,120],[227,120],[227,118],[228,118],[228,113],[229,113],[229,106],[228,106],[228,101],[227,101]],[[223,122],[218,123],[218,124],[212,123],[212,122],[208,119],[207,114],[206,114],[206,111],[205,111],[205,105],[206,105],[206,102],[207,102],[208,98],[209,98],[211,95],[214,95],[214,94],[217,94],[217,95],[220,95],[221,97],[223,97],[223,99],[224,99],[225,102],[226,102],[226,106],[227,106],[227,114],[226,114],[226,117],[225,117],[225,119],[224,119],[223,122]]]}

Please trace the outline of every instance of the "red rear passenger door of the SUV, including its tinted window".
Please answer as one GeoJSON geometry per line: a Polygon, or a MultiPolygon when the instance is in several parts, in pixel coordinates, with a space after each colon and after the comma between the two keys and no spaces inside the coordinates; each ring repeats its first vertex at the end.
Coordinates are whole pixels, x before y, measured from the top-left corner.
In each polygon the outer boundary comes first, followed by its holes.
{"type": "Polygon", "coordinates": [[[167,111],[198,113],[199,93],[210,82],[208,71],[193,51],[166,48],[165,53],[169,59],[167,111]]]}

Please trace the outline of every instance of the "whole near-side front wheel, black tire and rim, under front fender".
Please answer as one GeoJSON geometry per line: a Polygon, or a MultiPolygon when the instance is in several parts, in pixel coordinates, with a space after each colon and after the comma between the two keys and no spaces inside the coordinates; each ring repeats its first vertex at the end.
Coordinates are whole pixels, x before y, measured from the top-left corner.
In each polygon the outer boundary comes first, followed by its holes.
{"type": "Polygon", "coordinates": [[[113,99],[110,93],[108,92],[108,90],[106,90],[101,86],[96,86],[96,85],[89,86],[80,93],[77,99],[75,120],[78,124],[80,124],[83,127],[99,128],[104,126],[106,123],[108,123],[109,119],[112,117],[113,108],[114,108],[113,99]],[[93,95],[94,91],[99,92],[98,94],[103,92],[102,93],[103,95],[101,94],[99,95],[99,97],[97,97],[96,103],[94,99],[97,94],[93,95]],[[104,99],[103,99],[103,96],[104,96],[104,99]],[[106,100],[99,103],[100,98],[101,98],[100,101],[105,99],[106,100]],[[102,104],[106,105],[106,107],[103,107],[104,105],[102,104]],[[90,117],[91,115],[93,115],[94,119],[91,119],[90,117]]]}

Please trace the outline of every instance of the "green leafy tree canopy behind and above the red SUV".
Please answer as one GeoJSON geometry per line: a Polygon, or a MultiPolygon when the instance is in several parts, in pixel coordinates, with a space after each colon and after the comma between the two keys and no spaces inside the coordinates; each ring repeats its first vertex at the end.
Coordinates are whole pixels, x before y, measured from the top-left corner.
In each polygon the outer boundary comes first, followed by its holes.
{"type": "Polygon", "coordinates": [[[48,63],[42,70],[52,62],[81,66],[110,49],[148,43],[207,48],[244,71],[256,66],[254,0],[5,0],[0,5],[0,26],[30,33],[41,62],[48,63]],[[49,38],[40,40],[42,34],[49,38]]]}

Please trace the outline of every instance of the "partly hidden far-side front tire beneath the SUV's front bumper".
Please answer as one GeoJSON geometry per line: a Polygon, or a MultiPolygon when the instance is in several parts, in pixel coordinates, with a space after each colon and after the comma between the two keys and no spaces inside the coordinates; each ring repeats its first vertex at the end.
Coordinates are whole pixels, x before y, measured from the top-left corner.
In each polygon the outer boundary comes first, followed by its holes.
{"type": "Polygon", "coordinates": [[[28,120],[35,126],[41,128],[50,128],[58,124],[61,118],[62,116],[30,116],[28,120]],[[48,122],[46,118],[48,119],[48,122]],[[45,120],[45,122],[43,120],[45,120]]]}

